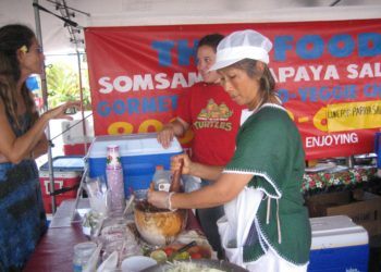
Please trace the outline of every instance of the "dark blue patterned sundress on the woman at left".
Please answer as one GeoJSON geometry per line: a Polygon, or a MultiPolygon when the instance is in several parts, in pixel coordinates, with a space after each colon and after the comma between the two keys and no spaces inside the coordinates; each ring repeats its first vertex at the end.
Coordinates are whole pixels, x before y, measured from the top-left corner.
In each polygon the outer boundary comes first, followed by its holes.
{"type": "MultiPolygon", "coordinates": [[[[19,137],[30,127],[30,115],[20,118],[19,137]]],[[[34,160],[0,163],[0,271],[21,271],[47,230],[46,213],[34,160]]]]}

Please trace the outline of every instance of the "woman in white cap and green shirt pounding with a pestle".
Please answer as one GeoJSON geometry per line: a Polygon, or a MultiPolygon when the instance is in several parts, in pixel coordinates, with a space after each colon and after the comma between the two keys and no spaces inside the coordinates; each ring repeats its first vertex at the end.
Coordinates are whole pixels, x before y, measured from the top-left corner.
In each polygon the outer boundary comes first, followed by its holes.
{"type": "Polygon", "coordinates": [[[239,128],[234,156],[223,171],[186,154],[174,157],[173,171],[184,160],[183,173],[216,182],[187,194],[149,191],[148,201],[170,210],[224,205],[218,226],[231,262],[249,271],[307,271],[311,230],[300,194],[305,156],[298,129],[275,95],[271,48],[251,29],[219,44],[211,70],[230,97],[253,111],[239,128]]]}

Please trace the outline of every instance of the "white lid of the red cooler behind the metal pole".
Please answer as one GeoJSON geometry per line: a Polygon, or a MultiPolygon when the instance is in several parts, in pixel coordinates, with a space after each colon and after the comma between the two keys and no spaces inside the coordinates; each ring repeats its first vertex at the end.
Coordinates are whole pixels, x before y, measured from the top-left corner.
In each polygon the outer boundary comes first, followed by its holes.
{"type": "MultiPolygon", "coordinates": [[[[59,156],[53,158],[53,171],[83,172],[85,161],[83,156],[59,156]]],[[[49,162],[39,168],[40,171],[49,171],[49,162]]]]}

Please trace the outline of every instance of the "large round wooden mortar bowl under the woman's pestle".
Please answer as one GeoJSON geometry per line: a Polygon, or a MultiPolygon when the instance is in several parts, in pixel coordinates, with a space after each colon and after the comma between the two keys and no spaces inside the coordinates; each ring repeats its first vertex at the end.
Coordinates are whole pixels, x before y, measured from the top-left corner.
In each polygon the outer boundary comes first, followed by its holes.
{"type": "Polygon", "coordinates": [[[151,245],[171,244],[185,228],[187,210],[150,210],[135,207],[135,224],[142,237],[151,245]]]}

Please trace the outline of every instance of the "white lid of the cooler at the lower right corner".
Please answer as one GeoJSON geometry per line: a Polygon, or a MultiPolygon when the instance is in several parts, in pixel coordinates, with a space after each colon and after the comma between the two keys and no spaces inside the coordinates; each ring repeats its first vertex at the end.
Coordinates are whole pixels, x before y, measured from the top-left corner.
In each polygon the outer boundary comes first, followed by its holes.
{"type": "Polygon", "coordinates": [[[367,231],[347,215],[311,218],[309,221],[312,228],[312,250],[368,244],[367,231]]]}

